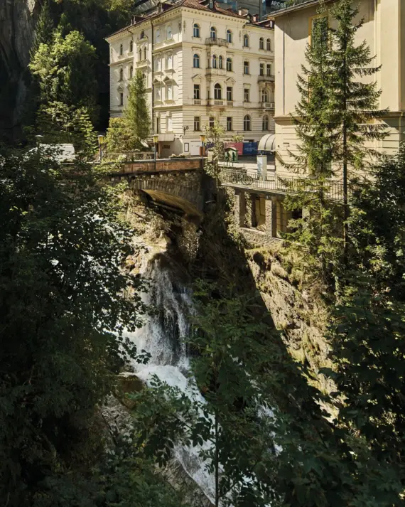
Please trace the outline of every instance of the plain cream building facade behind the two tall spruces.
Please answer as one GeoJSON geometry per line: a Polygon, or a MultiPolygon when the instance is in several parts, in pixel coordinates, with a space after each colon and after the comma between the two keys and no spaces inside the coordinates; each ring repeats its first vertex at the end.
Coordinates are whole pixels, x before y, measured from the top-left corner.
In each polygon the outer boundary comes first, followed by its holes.
{"type": "MultiPolygon", "coordinates": [[[[329,4],[329,1],[327,2],[329,4]]],[[[405,1],[404,0],[354,0],[360,6],[358,20],[364,25],[357,32],[357,43],[366,41],[375,65],[381,70],[372,79],[377,80],[382,95],[380,109],[389,108],[382,121],[388,136],[374,142],[375,149],[387,154],[399,149],[405,131],[405,1]]],[[[291,121],[299,93],[297,75],[305,64],[306,44],[310,41],[314,20],[317,18],[318,0],[300,0],[296,5],[274,13],[274,64],[276,66],[276,166],[283,174],[281,162],[291,161],[288,151],[297,146],[295,128],[291,121]]],[[[330,23],[333,23],[330,20],[330,23]]]]}

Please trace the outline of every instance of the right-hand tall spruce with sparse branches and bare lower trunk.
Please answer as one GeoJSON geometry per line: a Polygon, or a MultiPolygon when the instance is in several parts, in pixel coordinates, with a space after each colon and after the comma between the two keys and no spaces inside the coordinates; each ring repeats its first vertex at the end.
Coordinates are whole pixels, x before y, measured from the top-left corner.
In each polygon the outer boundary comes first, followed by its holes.
{"type": "Polygon", "coordinates": [[[356,35],[363,26],[363,20],[354,23],[359,8],[353,7],[351,0],[340,0],[333,5],[331,14],[338,22],[337,28],[330,30],[333,79],[330,110],[333,112],[336,134],[333,160],[342,169],[344,240],[347,245],[349,183],[357,176],[357,169],[367,170],[372,159],[379,156],[377,150],[365,144],[384,139],[384,124],[376,120],[384,117],[387,110],[378,109],[381,90],[371,80],[380,67],[372,65],[374,57],[367,43],[363,41],[357,45],[355,42],[356,35]],[[351,175],[348,174],[349,169],[352,170],[351,175]]]}

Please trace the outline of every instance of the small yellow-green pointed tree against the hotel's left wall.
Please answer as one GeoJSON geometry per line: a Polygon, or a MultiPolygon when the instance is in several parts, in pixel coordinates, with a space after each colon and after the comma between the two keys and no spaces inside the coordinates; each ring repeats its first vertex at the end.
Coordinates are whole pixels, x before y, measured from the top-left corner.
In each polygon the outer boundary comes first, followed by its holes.
{"type": "Polygon", "coordinates": [[[146,100],[145,81],[140,70],[129,84],[128,105],[120,118],[111,118],[107,129],[108,151],[141,149],[141,141],[151,132],[151,120],[146,100]]]}

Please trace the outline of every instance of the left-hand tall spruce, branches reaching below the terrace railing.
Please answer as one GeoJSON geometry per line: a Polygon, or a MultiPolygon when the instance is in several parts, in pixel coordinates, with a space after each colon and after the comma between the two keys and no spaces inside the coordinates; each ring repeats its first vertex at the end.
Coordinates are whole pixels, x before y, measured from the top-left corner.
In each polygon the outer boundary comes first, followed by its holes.
{"type": "Polygon", "coordinates": [[[301,66],[297,87],[301,100],[296,105],[293,123],[296,126],[298,146],[290,152],[293,159],[286,164],[298,174],[287,183],[292,193],[286,196],[284,207],[302,210],[302,216],[290,220],[290,233],[284,236],[286,245],[294,250],[296,260],[308,281],[325,279],[331,272],[337,254],[339,240],[336,207],[331,205],[335,186],[332,156],[336,144],[330,114],[330,46],[328,43],[328,11],[321,2],[318,9],[311,43],[306,47],[306,65],[301,66]]]}

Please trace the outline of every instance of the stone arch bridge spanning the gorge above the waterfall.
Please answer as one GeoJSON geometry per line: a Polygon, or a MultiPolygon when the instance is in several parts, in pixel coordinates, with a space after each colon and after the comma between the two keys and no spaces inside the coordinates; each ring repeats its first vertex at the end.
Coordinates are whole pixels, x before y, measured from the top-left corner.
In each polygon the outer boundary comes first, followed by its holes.
{"type": "Polygon", "coordinates": [[[203,164],[202,157],[138,160],[124,162],[110,176],[112,181],[126,179],[159,206],[202,218],[210,188],[203,164]]]}

